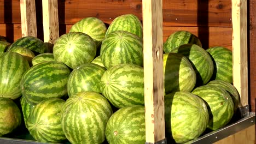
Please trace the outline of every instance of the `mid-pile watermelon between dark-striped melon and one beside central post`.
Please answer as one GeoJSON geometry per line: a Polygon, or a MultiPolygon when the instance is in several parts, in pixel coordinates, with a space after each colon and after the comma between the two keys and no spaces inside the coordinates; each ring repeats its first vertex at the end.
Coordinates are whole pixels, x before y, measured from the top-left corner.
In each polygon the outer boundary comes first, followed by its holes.
{"type": "Polygon", "coordinates": [[[88,63],[75,68],[68,77],[67,92],[69,97],[81,91],[101,93],[101,76],[106,69],[100,65],[88,63]]]}

